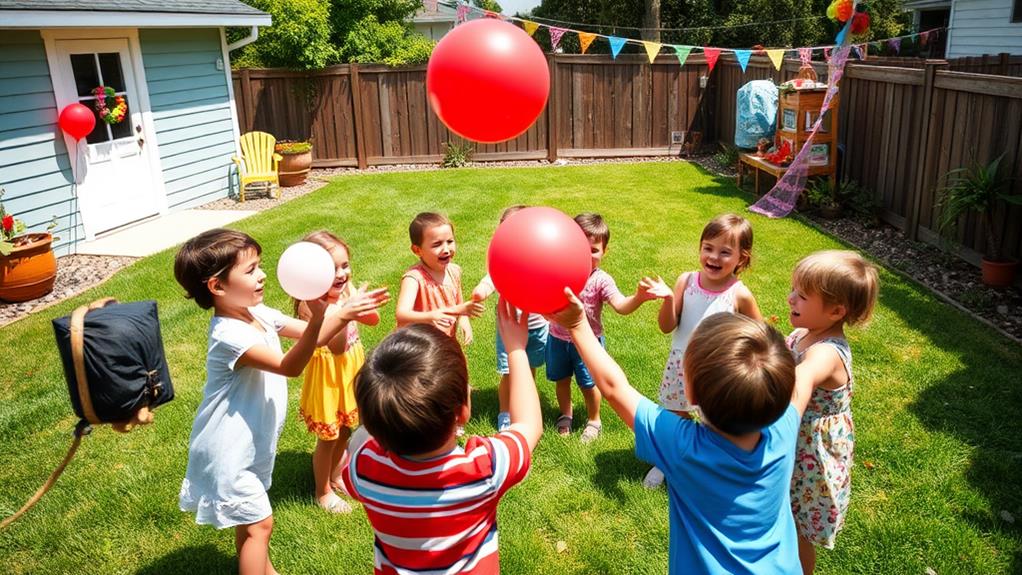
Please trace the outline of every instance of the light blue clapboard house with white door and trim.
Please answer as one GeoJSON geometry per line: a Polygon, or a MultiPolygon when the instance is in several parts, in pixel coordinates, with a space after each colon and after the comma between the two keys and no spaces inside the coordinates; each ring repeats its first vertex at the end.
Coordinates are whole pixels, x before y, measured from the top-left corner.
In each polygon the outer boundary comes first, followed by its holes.
{"type": "Polygon", "coordinates": [[[78,242],[225,197],[238,152],[229,52],[270,23],[237,0],[0,0],[7,211],[36,230],[55,215],[55,249],[74,253],[78,242]],[[224,27],[251,32],[228,46],[224,27]],[[95,109],[100,85],[126,98],[128,113],[112,126],[97,118],[76,144],[59,110],[95,109]]]}

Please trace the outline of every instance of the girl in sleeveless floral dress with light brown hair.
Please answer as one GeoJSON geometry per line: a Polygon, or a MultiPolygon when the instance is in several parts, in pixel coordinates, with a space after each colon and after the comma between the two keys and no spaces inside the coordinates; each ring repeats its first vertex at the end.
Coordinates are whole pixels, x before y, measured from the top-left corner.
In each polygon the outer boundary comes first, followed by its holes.
{"type": "MultiPolygon", "coordinates": [[[[877,299],[876,269],[852,251],[820,251],[795,267],[788,305],[788,347],[796,380],[811,384],[802,416],[791,482],[791,507],[798,529],[804,573],[816,568],[816,545],[834,547],[851,494],[851,349],[845,325],[865,323],[877,299]]],[[[796,384],[796,388],[801,388],[796,384]]]]}

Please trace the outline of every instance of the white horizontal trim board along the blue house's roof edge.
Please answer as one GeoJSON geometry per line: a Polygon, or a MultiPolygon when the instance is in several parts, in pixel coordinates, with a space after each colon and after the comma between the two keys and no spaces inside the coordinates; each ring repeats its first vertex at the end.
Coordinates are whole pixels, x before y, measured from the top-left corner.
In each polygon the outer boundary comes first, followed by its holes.
{"type": "Polygon", "coordinates": [[[0,10],[0,28],[220,28],[270,26],[270,14],[0,10]]]}

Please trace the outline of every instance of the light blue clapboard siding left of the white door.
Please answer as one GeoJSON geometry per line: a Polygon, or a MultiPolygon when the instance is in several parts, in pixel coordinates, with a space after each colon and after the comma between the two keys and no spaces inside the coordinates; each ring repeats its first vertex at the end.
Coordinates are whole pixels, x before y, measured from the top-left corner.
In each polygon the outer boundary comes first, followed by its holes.
{"type": "Polygon", "coordinates": [[[85,237],[46,50],[35,30],[0,34],[0,187],[4,207],[30,230],[45,230],[56,217],[58,254],[85,237]]]}

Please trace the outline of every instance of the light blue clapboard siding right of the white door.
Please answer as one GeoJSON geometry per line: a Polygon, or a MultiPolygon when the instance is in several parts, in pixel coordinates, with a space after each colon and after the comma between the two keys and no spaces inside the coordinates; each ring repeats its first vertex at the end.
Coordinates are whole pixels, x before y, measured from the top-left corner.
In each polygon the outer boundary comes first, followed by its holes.
{"type": "Polygon", "coordinates": [[[220,30],[140,30],[139,42],[168,207],[225,197],[236,150],[220,30]]]}

